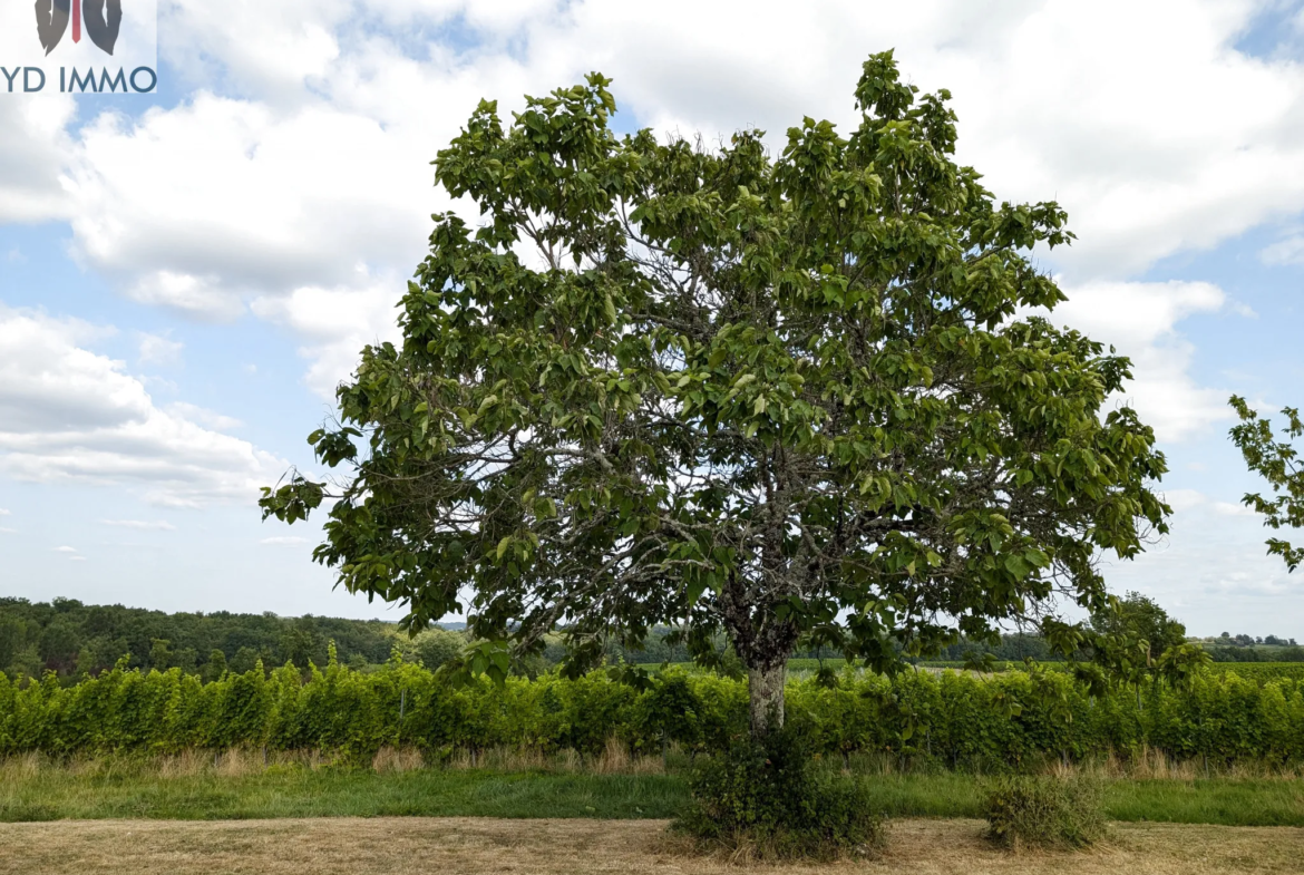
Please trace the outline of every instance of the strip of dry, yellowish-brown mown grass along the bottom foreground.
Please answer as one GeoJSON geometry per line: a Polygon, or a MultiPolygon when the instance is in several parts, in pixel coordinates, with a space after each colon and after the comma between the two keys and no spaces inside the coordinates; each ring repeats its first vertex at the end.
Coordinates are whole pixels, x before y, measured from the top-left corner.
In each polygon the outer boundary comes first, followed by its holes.
{"type": "Polygon", "coordinates": [[[0,872],[14,875],[642,875],[892,872],[893,875],[1211,875],[1304,868],[1304,829],[1116,824],[1084,853],[998,850],[977,820],[897,820],[878,859],[739,866],[682,853],[660,820],[318,818],[61,820],[0,824],[0,872]]]}

